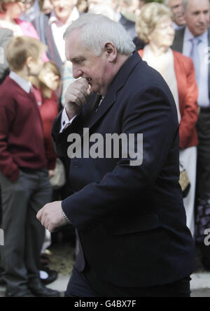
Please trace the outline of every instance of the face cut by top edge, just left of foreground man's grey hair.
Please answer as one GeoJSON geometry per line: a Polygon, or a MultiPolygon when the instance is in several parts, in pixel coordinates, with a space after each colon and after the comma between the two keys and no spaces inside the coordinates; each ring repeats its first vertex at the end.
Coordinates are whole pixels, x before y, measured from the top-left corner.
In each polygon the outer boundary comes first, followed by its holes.
{"type": "Polygon", "coordinates": [[[52,8],[55,11],[55,14],[62,22],[66,22],[66,20],[68,20],[75,2],[76,1],[74,0],[51,0],[52,8]]]}

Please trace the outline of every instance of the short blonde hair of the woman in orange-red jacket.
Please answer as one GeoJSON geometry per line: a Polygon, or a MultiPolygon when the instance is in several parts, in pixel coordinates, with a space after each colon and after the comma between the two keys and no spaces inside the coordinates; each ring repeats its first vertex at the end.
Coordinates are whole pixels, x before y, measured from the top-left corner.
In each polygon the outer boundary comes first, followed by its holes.
{"type": "Polygon", "coordinates": [[[154,31],[157,24],[164,20],[165,17],[172,18],[172,10],[164,4],[152,2],[142,6],[136,23],[139,38],[148,43],[148,35],[154,31]]]}

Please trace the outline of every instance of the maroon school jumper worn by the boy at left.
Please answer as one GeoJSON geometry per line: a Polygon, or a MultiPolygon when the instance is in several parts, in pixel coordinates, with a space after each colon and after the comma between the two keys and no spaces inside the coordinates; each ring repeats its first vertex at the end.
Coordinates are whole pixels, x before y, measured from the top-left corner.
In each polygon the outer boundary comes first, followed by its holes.
{"type": "Polygon", "coordinates": [[[0,171],[14,182],[19,168],[45,167],[43,126],[34,94],[7,77],[0,85],[0,171]]]}

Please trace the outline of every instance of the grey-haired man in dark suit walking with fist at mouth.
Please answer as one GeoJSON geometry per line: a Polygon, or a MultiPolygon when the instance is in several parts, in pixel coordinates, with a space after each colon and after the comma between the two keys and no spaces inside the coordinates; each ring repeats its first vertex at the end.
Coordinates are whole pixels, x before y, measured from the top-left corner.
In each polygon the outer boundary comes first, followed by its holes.
{"type": "Polygon", "coordinates": [[[77,229],[66,296],[190,296],[193,239],[169,87],[107,17],[83,15],[65,37],[80,79],[66,92],[52,137],[57,153],[71,157],[75,193],[37,217],[50,231],[68,222],[77,229]]]}

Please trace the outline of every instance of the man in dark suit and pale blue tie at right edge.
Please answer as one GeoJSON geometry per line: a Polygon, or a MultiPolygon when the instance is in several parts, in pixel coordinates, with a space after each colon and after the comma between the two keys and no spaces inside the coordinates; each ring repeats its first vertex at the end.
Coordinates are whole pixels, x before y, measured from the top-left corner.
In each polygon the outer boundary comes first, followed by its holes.
{"type": "Polygon", "coordinates": [[[209,0],[183,0],[186,27],[176,31],[172,48],[192,57],[198,86],[197,204],[195,242],[204,268],[210,270],[210,249],[204,245],[210,226],[210,62],[209,0]]]}

